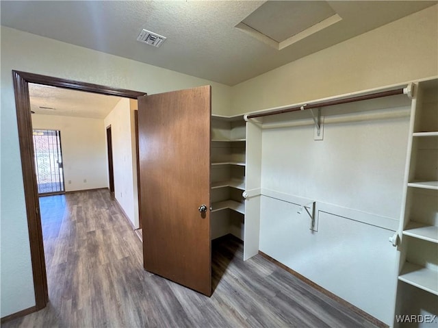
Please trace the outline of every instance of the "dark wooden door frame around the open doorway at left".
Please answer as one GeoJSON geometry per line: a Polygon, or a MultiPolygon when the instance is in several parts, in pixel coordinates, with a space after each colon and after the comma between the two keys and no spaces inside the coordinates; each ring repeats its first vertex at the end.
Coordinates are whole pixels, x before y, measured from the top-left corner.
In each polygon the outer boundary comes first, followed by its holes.
{"type": "Polygon", "coordinates": [[[90,84],[87,82],[73,81],[70,79],[62,79],[59,77],[50,77],[21,71],[12,71],[12,79],[14,81],[16,120],[18,125],[18,140],[20,144],[21,168],[23,170],[27,228],[29,231],[31,264],[34,276],[35,310],[38,311],[47,305],[47,302],[49,301],[49,291],[47,289],[40,205],[38,201],[36,169],[34,166],[34,141],[32,138],[29,83],[131,99],[137,99],[138,97],[145,95],[146,92],[100,86],[98,84],[90,84]]]}

